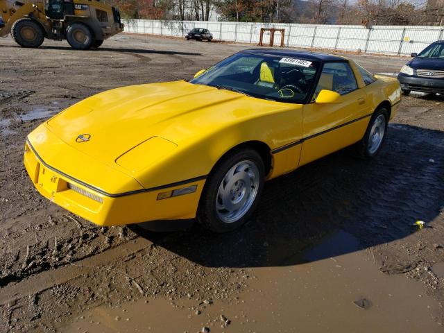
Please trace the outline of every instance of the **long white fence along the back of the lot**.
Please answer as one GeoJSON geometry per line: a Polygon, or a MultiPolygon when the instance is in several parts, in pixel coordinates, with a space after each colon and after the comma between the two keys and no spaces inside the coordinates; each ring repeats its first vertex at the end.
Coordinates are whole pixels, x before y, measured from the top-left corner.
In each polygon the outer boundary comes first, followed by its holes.
{"type": "MultiPolygon", "coordinates": [[[[285,29],[284,44],[292,47],[334,49],[390,55],[419,52],[436,40],[444,39],[443,26],[338,26],[323,24],[262,24],[245,22],[124,21],[128,33],[184,37],[192,28],[207,28],[215,40],[257,44],[260,28],[285,29]]],[[[264,34],[268,44],[270,34],[264,34]]],[[[280,45],[275,33],[275,45],[280,45]]]]}

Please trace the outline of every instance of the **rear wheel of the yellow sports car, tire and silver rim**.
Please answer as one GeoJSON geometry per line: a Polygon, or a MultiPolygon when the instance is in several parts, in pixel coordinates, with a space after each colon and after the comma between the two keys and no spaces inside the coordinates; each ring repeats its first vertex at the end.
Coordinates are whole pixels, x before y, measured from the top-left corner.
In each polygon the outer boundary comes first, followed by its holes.
{"type": "Polygon", "coordinates": [[[386,108],[377,109],[368,123],[366,134],[355,145],[359,157],[370,159],[379,153],[386,139],[387,126],[388,111],[386,108]]]}

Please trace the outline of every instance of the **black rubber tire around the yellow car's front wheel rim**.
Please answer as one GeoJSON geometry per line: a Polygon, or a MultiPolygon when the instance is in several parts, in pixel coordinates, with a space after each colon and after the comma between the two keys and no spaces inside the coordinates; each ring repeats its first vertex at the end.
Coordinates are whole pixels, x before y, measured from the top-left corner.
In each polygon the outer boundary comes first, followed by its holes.
{"type": "Polygon", "coordinates": [[[262,189],[264,188],[264,173],[265,167],[264,162],[262,161],[262,157],[259,155],[259,153],[257,153],[257,151],[254,151],[253,149],[246,148],[233,151],[232,153],[230,153],[230,155],[223,157],[223,160],[219,161],[218,164],[216,164],[216,167],[214,167],[214,169],[210,173],[210,176],[207,178],[207,182],[205,183],[202,195],[200,196],[200,202],[197,212],[197,220],[200,225],[203,225],[204,228],[207,228],[212,232],[222,233],[237,229],[241,225],[246,223],[246,221],[250,219],[257,205],[259,204],[262,189]],[[216,210],[216,200],[218,198],[219,187],[221,186],[221,182],[225,178],[225,175],[228,173],[228,171],[230,171],[230,169],[232,169],[236,164],[246,161],[253,163],[255,167],[257,167],[259,175],[257,179],[257,192],[253,203],[250,205],[248,210],[246,210],[244,215],[239,216],[239,219],[237,219],[236,221],[227,223],[220,218],[216,210]]]}

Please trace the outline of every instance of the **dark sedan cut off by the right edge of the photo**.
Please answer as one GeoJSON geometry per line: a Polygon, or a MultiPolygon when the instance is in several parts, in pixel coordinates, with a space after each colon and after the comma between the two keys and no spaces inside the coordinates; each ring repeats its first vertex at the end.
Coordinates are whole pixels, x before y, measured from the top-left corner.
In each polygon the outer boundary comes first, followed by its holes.
{"type": "Polygon", "coordinates": [[[408,95],[413,90],[444,94],[444,40],[411,56],[413,59],[402,66],[398,75],[402,93],[408,95]]]}

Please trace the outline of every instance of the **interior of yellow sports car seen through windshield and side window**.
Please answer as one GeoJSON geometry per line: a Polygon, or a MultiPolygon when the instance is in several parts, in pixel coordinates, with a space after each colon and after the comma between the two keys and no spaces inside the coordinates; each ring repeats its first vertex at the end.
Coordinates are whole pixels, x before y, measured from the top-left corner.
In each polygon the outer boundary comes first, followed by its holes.
{"type": "MultiPolygon", "coordinates": [[[[304,67],[280,61],[282,58],[239,56],[226,66],[215,66],[196,83],[230,87],[264,99],[300,103],[307,99],[315,84],[320,62],[304,67]],[[214,75],[212,74],[214,72],[214,75]]],[[[315,89],[314,99],[322,89],[341,95],[357,89],[355,74],[348,62],[326,62],[315,89]]]]}

